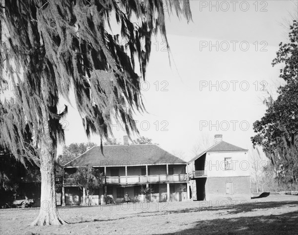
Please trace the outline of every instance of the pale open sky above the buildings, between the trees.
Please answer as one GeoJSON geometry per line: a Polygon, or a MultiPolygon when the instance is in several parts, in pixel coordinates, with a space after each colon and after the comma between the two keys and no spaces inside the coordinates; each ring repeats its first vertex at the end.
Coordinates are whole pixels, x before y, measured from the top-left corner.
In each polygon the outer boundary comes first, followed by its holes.
{"type": "MultiPolygon", "coordinates": [[[[203,135],[213,138],[222,133],[224,141],[251,149],[252,124],[266,110],[262,100],[267,92],[261,91],[260,82],[265,81],[265,89],[271,93],[282,83],[278,66],[273,68],[271,62],[278,44],[287,41],[293,15],[297,18],[297,1],[293,0],[212,4],[210,9],[210,1],[191,0],[193,21],[189,24],[175,14],[167,18],[171,66],[162,39],[152,38],[147,82],[143,84],[149,114],[135,117],[141,135],[152,138],[169,152],[184,153],[184,159],[193,157],[192,149],[201,143],[203,135]],[[224,11],[227,5],[229,9],[224,11]],[[209,48],[216,43],[218,46],[209,48]],[[218,83],[218,91],[209,83],[218,83]]],[[[67,145],[88,141],[74,107],[69,106],[63,124],[67,145]]],[[[126,134],[123,129],[115,122],[114,135],[120,141],[126,134]]],[[[100,143],[99,136],[90,140],[100,143]]]]}

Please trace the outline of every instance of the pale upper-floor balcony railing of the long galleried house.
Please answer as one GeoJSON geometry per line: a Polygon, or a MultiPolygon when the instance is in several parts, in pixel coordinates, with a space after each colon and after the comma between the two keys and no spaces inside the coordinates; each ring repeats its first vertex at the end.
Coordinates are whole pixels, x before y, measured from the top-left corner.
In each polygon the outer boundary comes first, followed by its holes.
{"type": "MultiPolygon", "coordinates": [[[[155,183],[155,182],[179,182],[187,181],[187,174],[179,175],[139,175],[139,176],[106,176],[102,177],[103,183],[107,184],[136,184],[136,183],[155,183]]],[[[72,178],[64,179],[65,185],[75,185],[72,178]]]]}

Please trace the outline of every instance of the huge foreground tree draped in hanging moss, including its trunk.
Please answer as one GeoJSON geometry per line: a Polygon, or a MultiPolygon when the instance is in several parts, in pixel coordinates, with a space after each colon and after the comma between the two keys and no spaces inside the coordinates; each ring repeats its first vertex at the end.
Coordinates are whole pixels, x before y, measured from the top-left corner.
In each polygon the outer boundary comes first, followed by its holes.
{"type": "MultiPolygon", "coordinates": [[[[169,12],[191,19],[188,0],[167,3],[169,12]]],[[[142,112],[144,105],[136,64],[145,79],[151,36],[160,33],[167,42],[163,1],[4,0],[0,4],[0,41],[9,42],[0,55],[0,83],[11,80],[15,86],[11,99],[1,100],[0,143],[17,157],[18,151],[27,149],[24,136],[29,129],[37,153],[32,157],[43,166],[41,204],[49,207],[41,206],[31,226],[66,224],[55,195],[57,145],[64,142],[61,119],[67,114],[67,106],[59,112],[59,98],[71,103],[69,88],[73,88],[88,137],[94,133],[107,139],[115,119],[125,124],[128,135],[138,132],[133,114],[142,112]],[[119,33],[111,33],[111,17],[120,25],[119,33]],[[9,115],[13,120],[7,127],[9,115]]]]}

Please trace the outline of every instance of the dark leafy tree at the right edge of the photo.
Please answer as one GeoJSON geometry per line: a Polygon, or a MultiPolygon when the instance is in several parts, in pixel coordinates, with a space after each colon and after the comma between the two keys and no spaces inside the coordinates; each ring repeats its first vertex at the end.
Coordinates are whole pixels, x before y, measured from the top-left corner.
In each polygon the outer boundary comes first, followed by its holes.
{"type": "Polygon", "coordinates": [[[267,102],[265,116],[253,124],[253,145],[261,145],[283,182],[298,185],[298,23],[290,26],[289,43],[280,43],[272,65],[283,63],[276,101],[267,102]]]}

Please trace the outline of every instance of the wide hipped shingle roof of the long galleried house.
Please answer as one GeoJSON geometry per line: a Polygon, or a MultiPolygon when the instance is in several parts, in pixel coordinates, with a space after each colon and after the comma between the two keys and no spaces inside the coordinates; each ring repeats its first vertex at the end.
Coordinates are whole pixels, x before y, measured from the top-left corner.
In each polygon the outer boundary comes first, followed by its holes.
{"type": "Polygon", "coordinates": [[[94,146],[74,160],[65,164],[70,166],[119,166],[138,164],[186,164],[182,159],[175,157],[155,144],[132,145],[104,145],[103,154],[100,146],[94,146]]]}

